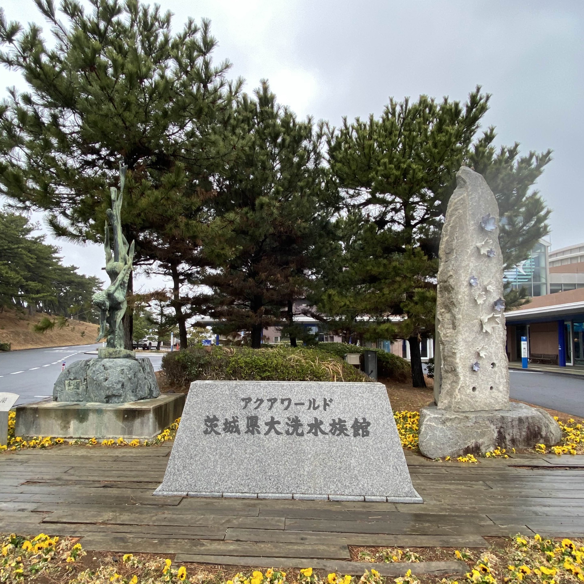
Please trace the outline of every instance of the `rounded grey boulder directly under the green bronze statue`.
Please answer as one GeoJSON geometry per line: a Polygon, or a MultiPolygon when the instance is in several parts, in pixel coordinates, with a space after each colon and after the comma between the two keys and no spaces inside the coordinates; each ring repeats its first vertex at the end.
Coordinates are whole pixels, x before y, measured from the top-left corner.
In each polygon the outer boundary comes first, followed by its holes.
{"type": "Polygon", "coordinates": [[[61,371],[54,388],[58,402],[123,404],[160,395],[150,359],[85,359],[61,371]]]}

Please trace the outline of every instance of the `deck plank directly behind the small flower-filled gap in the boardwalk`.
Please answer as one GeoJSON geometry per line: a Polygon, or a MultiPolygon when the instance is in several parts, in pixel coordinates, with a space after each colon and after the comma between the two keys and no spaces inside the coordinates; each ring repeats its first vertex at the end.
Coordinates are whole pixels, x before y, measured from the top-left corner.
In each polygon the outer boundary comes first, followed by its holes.
{"type": "Polygon", "coordinates": [[[280,541],[288,543],[343,543],[346,545],[399,545],[400,547],[488,547],[481,536],[404,536],[363,533],[315,533],[229,527],[225,540],[280,541]]]}

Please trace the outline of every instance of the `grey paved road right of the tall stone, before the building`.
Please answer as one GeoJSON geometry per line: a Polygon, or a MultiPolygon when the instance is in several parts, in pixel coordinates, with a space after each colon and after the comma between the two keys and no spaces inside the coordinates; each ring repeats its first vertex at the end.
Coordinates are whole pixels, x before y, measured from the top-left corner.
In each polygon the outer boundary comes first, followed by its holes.
{"type": "Polygon", "coordinates": [[[511,397],[584,418],[584,379],[510,370],[511,397]]]}

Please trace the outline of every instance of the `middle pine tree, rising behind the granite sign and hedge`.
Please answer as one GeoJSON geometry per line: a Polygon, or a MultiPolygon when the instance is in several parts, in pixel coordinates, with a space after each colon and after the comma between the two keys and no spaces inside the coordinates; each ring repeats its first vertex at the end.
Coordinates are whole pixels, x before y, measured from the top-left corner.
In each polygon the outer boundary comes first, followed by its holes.
{"type": "Polygon", "coordinates": [[[318,131],[276,103],[267,82],[244,95],[232,120],[241,147],[217,181],[215,211],[235,253],[204,283],[214,290],[217,332],[292,325],[288,307],[302,296],[333,207],[325,188],[318,131]]]}

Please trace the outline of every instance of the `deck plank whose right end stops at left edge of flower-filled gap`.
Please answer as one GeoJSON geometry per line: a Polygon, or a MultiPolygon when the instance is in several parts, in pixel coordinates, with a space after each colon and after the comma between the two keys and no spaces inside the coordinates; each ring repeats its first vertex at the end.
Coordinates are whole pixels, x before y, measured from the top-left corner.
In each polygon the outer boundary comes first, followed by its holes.
{"type": "Polygon", "coordinates": [[[128,537],[121,534],[89,534],[81,541],[85,550],[150,554],[204,554],[231,556],[274,556],[350,559],[349,549],[340,544],[293,544],[255,541],[206,541],[158,537],[128,537]]]}

